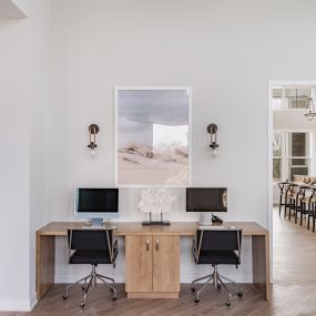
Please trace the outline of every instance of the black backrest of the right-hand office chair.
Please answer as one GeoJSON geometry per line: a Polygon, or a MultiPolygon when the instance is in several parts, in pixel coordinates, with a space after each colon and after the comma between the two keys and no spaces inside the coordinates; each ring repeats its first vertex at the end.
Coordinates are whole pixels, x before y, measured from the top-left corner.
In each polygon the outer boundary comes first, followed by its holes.
{"type": "Polygon", "coordinates": [[[196,231],[200,251],[239,251],[242,246],[241,230],[196,231]]]}

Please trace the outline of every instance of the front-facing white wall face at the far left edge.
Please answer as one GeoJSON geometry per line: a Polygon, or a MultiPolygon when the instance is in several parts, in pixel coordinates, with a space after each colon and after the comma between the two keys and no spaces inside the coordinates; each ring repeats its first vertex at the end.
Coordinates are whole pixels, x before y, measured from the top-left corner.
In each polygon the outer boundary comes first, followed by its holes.
{"type": "Polygon", "coordinates": [[[28,57],[21,54],[26,38],[22,21],[0,20],[0,309],[23,308],[29,300],[30,103],[28,57]]]}

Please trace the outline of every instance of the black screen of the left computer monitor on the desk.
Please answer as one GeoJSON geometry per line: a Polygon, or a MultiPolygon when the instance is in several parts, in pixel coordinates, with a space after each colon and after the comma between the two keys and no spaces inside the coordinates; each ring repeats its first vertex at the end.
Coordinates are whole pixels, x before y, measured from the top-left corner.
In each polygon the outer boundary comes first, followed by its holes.
{"type": "Polygon", "coordinates": [[[119,212],[119,188],[78,188],[77,212],[119,212]]]}

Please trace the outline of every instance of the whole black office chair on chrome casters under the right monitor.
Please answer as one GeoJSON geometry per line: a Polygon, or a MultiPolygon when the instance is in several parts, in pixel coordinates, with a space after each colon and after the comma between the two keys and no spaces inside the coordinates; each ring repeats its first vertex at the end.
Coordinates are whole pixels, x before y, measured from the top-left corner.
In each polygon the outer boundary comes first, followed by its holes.
{"type": "MultiPolygon", "coordinates": [[[[241,246],[242,246],[242,231],[241,230],[196,230],[195,239],[193,241],[193,257],[195,264],[211,264],[214,272],[204,277],[200,277],[192,282],[191,289],[195,292],[195,283],[208,278],[204,285],[196,292],[195,302],[200,302],[200,294],[213,279],[214,288],[221,289],[221,285],[227,294],[226,305],[231,305],[232,294],[227,286],[222,281],[228,281],[238,285],[233,279],[221,275],[217,271],[218,264],[236,265],[241,264],[241,246]]],[[[238,296],[243,296],[243,289],[239,286],[238,296]]]]}

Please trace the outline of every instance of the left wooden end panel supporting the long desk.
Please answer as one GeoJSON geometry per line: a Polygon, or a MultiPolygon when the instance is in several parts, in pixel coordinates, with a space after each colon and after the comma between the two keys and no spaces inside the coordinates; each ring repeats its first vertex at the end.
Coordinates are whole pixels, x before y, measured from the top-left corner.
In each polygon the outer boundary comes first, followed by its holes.
{"type": "Polygon", "coordinates": [[[54,284],[54,236],[37,234],[37,298],[54,284]]]}

